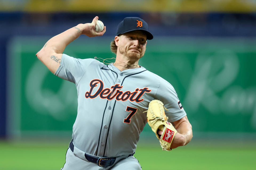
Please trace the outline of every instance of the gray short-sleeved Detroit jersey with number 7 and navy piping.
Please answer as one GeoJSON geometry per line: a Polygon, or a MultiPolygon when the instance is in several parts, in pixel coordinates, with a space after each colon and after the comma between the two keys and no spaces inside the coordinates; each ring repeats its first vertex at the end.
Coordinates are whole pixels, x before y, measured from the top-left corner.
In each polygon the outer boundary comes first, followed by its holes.
{"type": "Polygon", "coordinates": [[[173,86],[144,67],[120,71],[113,64],[63,54],[55,75],[77,87],[72,137],[74,145],[87,154],[116,157],[134,153],[147,123],[142,112],[151,100],[164,103],[169,122],[186,116],[173,86]]]}

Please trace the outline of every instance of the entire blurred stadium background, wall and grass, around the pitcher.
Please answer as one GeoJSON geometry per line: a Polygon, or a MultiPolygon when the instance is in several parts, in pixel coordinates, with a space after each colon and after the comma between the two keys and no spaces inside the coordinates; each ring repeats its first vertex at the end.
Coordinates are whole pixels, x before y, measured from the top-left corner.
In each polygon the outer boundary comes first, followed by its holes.
{"type": "Polygon", "coordinates": [[[143,18],[154,39],[139,64],[174,86],[193,126],[189,145],[162,152],[147,125],[135,154],[143,169],[165,167],[163,158],[175,169],[255,168],[256,0],[0,0],[0,169],[65,163],[76,88],[35,54],[96,15],[106,33],[81,36],[64,53],[112,58],[118,23],[143,18]]]}

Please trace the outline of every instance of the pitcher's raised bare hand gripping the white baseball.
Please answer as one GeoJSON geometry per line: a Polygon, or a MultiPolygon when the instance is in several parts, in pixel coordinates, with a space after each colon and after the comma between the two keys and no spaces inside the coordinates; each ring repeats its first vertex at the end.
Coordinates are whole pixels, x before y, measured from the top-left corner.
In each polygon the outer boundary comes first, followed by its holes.
{"type": "Polygon", "coordinates": [[[91,23],[78,24],[77,27],[82,31],[81,34],[88,37],[102,36],[106,32],[106,26],[104,26],[104,29],[101,32],[96,32],[94,29],[98,19],[99,17],[95,16],[91,23]]]}

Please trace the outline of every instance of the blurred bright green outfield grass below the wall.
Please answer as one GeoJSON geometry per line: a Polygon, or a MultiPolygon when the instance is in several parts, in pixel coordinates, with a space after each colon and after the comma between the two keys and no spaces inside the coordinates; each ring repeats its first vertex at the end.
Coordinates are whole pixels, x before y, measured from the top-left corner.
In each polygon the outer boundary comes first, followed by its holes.
{"type": "MultiPolygon", "coordinates": [[[[1,170],[53,170],[65,163],[68,142],[0,141],[1,170]]],[[[138,143],[134,155],[143,170],[255,169],[256,146],[251,143],[196,142],[167,152],[160,145],[138,143]]]]}

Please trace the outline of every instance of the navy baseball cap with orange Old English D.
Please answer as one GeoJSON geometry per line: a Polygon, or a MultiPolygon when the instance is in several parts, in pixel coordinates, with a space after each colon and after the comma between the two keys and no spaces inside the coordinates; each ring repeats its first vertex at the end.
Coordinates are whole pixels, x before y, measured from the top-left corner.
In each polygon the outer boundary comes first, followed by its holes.
{"type": "Polygon", "coordinates": [[[147,35],[148,40],[153,39],[153,35],[148,31],[149,25],[141,18],[126,17],[117,26],[117,36],[126,32],[139,30],[147,35]]]}

